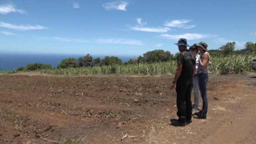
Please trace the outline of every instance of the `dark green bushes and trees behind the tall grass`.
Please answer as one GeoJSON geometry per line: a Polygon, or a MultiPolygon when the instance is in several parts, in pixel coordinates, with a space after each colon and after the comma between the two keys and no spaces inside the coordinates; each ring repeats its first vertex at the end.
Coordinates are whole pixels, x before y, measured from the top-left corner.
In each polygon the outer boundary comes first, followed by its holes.
{"type": "MultiPolygon", "coordinates": [[[[236,42],[227,42],[216,50],[209,50],[211,57],[227,56],[234,54],[250,54],[256,52],[256,43],[246,42],[244,49],[234,50],[236,42]]],[[[117,56],[105,56],[103,59],[93,58],[90,54],[76,58],[66,58],[58,64],[57,68],[78,68],[78,67],[92,67],[92,66],[110,66],[110,65],[127,65],[127,64],[151,64],[158,62],[168,62],[176,60],[179,52],[171,54],[169,51],[152,50],[138,56],[138,58],[131,58],[128,62],[122,63],[122,60],[117,56]]],[[[17,68],[16,71],[32,71],[36,69],[52,68],[50,64],[28,64],[27,67],[17,68]]]]}

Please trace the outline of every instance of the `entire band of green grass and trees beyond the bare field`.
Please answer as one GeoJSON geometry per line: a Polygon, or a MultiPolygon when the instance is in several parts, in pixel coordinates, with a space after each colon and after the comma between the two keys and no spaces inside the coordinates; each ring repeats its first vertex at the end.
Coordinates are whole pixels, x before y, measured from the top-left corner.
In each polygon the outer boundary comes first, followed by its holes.
{"type": "MultiPolygon", "coordinates": [[[[256,43],[246,42],[242,50],[234,50],[235,44],[236,42],[227,42],[217,50],[209,50],[212,62],[212,66],[208,67],[210,73],[245,74],[252,71],[251,62],[256,58],[256,43]]],[[[36,63],[14,69],[14,72],[36,71],[55,75],[166,75],[175,73],[178,54],[179,52],[171,54],[169,51],[153,50],[124,64],[116,56],[93,59],[87,54],[78,59],[64,59],[57,68],[36,63]]]]}

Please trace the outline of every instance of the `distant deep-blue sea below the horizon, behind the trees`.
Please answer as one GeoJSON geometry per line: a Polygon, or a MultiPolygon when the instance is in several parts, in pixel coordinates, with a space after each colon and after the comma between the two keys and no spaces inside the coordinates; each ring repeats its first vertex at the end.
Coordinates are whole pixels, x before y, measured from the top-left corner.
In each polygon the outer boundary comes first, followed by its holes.
{"type": "MultiPolygon", "coordinates": [[[[24,53],[1,53],[0,52],[0,70],[13,70],[13,68],[26,67],[30,63],[51,64],[52,68],[57,67],[61,60],[65,58],[79,58],[78,54],[24,54],[24,53]]],[[[117,56],[122,62],[127,62],[130,58],[138,56],[123,55],[92,55],[93,58],[104,58],[105,56],[117,56]]]]}

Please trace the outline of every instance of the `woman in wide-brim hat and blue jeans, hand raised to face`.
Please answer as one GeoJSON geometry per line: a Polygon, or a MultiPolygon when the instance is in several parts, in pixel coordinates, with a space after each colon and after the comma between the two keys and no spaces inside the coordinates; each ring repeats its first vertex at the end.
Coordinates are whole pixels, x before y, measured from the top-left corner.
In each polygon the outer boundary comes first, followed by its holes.
{"type": "Polygon", "coordinates": [[[201,56],[199,57],[199,66],[198,66],[198,86],[200,88],[203,107],[202,110],[198,113],[194,114],[194,118],[206,119],[207,110],[208,110],[208,96],[207,96],[207,88],[206,84],[208,82],[208,71],[207,65],[210,62],[210,54],[207,52],[208,45],[206,42],[199,42],[196,44],[196,47],[201,52],[201,56]]]}

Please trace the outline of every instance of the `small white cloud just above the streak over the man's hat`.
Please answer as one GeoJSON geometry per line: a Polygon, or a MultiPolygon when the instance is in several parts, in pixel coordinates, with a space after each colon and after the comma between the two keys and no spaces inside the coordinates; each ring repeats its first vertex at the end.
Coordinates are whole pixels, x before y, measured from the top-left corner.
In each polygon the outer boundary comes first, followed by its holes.
{"type": "Polygon", "coordinates": [[[164,26],[168,27],[175,27],[175,28],[194,28],[194,25],[186,25],[186,23],[190,22],[191,20],[172,20],[172,21],[165,21],[164,26]]]}

